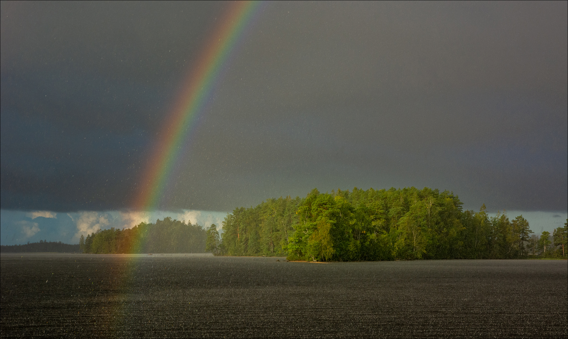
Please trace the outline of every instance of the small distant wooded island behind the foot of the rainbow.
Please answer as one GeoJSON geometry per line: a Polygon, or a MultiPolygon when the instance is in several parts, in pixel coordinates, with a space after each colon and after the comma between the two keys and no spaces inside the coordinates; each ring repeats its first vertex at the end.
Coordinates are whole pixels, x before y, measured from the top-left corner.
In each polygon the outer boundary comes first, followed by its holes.
{"type": "Polygon", "coordinates": [[[79,245],[83,253],[203,253],[206,237],[200,225],[166,217],[131,229],[99,229],[81,236],[79,245]]]}

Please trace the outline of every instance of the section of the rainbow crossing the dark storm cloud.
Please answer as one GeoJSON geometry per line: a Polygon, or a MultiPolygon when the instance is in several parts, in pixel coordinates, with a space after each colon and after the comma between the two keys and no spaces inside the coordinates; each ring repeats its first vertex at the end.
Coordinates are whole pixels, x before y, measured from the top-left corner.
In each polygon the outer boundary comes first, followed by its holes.
{"type": "Polygon", "coordinates": [[[166,119],[158,143],[143,174],[136,196],[137,210],[152,210],[164,197],[169,178],[186,148],[195,124],[203,114],[221,73],[245,31],[259,12],[261,1],[236,1],[208,39],[209,43],[193,65],[174,109],[166,119]]]}

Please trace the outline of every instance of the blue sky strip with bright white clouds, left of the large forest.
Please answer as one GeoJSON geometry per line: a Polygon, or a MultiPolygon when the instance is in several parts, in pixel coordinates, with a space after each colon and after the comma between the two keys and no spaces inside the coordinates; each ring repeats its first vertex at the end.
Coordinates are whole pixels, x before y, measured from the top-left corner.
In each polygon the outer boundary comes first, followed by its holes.
{"type": "Polygon", "coordinates": [[[52,211],[0,210],[0,245],[26,244],[27,242],[61,241],[77,244],[81,235],[97,229],[132,228],[140,223],[154,223],[157,219],[171,217],[201,225],[215,224],[222,232],[222,222],[227,212],[219,211],[80,211],[57,213],[52,211]]]}

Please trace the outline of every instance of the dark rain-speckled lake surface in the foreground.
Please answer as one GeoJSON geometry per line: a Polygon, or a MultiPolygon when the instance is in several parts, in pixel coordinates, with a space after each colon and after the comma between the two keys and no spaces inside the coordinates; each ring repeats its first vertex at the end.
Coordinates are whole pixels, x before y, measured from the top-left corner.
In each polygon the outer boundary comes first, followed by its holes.
{"type": "Polygon", "coordinates": [[[0,265],[1,337],[568,335],[560,260],[20,253],[0,265]]]}

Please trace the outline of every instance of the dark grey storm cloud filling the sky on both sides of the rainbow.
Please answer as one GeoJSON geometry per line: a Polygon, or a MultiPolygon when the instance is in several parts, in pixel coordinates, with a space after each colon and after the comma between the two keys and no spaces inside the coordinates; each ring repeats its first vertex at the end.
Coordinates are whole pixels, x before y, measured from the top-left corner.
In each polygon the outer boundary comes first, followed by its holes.
{"type": "MultiPolygon", "coordinates": [[[[225,3],[2,3],[2,208],[131,206],[225,3]]],[[[161,208],[353,186],[566,210],[566,2],[270,3],[161,208]]]]}

